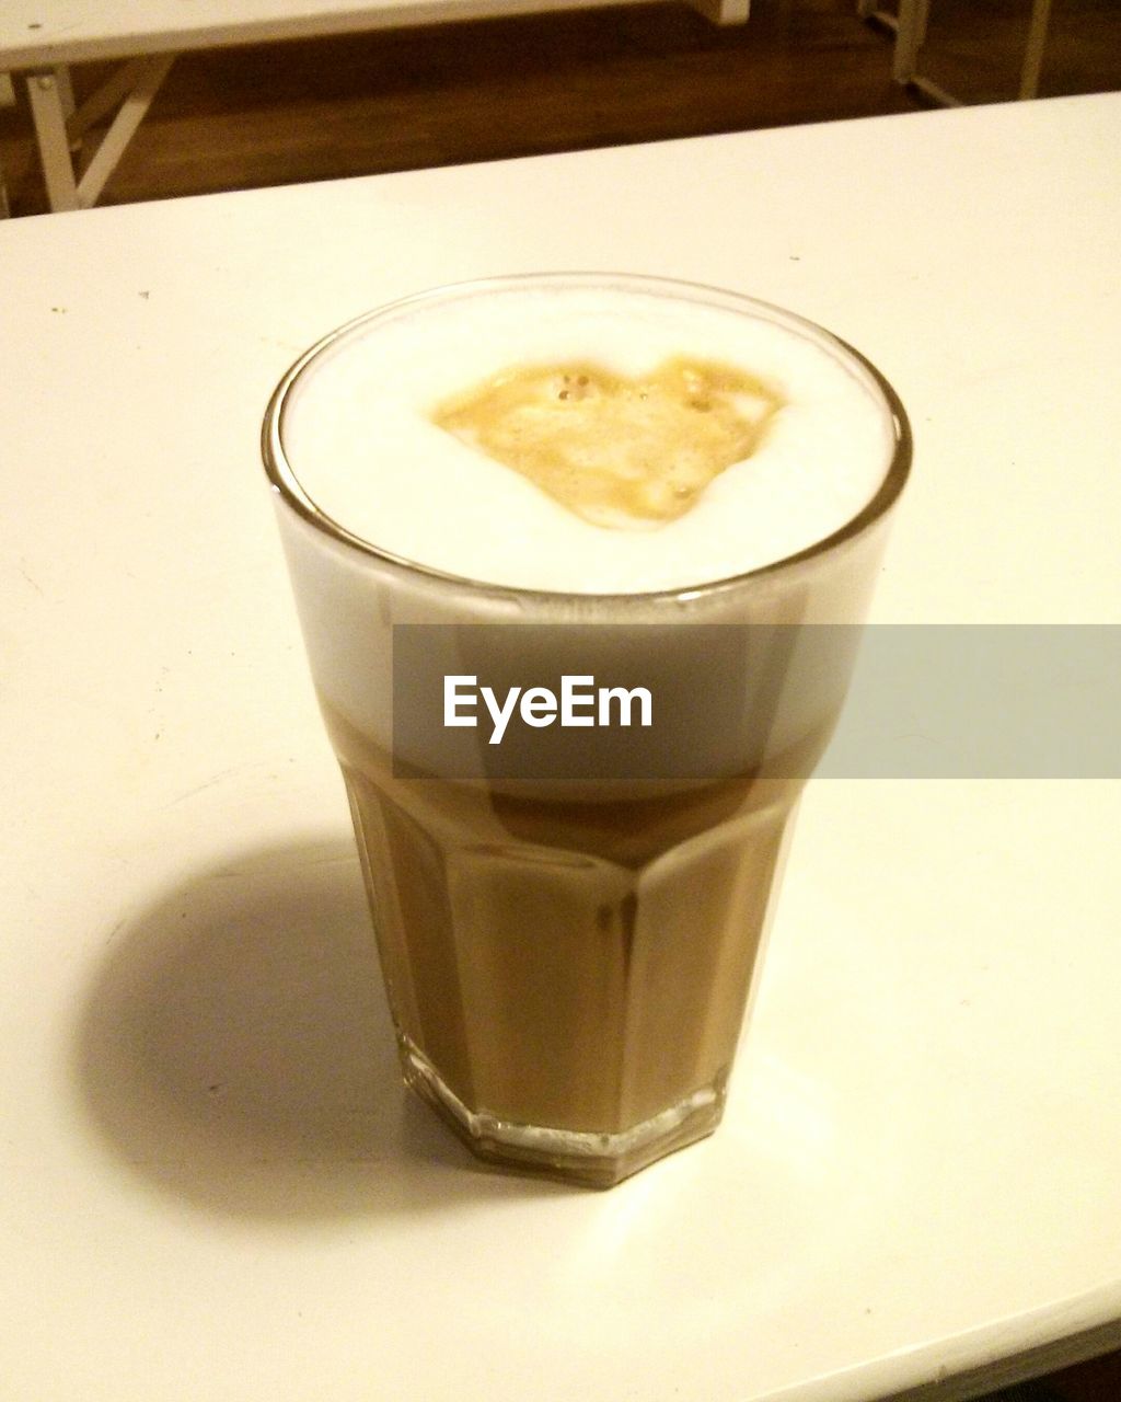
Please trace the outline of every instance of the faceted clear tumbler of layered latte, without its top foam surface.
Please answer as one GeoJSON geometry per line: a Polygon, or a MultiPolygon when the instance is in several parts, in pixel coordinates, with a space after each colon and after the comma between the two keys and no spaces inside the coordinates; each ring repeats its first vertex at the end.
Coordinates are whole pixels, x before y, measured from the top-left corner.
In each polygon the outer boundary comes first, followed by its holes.
{"type": "Polygon", "coordinates": [[[419,300],[541,285],[636,287],[771,320],[867,387],[891,443],[867,505],[789,558],[691,587],[566,594],[398,558],[326,516],[289,461],[286,415],[304,377],[418,299],[324,338],[269,405],[265,464],[350,802],[404,1080],[481,1158],[610,1186],[720,1120],[792,813],[853,663],[859,629],[814,625],[865,617],[909,432],[888,384],[855,350],[734,293],[555,273],[419,300]],[[591,732],[553,728],[568,750],[548,750],[539,773],[524,761],[496,767],[485,729],[451,737],[467,744],[457,770],[441,751],[450,732],[402,725],[419,683],[402,676],[401,659],[418,656],[418,639],[437,677],[532,662],[645,677],[656,695],[660,681],[680,690],[685,679],[691,715],[656,730],[653,758],[643,737],[638,768],[605,773],[580,757],[576,742],[591,732]]]}

